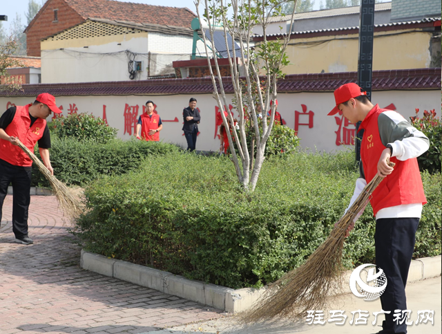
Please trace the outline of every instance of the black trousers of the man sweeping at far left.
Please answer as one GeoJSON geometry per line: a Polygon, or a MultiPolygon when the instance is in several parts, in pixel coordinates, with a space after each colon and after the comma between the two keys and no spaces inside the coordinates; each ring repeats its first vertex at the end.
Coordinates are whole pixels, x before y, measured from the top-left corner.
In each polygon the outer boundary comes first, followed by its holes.
{"type": "Polygon", "coordinates": [[[12,183],[12,232],[16,237],[28,235],[28,211],[30,203],[30,168],[20,168],[0,163],[0,221],[3,201],[12,183]]]}

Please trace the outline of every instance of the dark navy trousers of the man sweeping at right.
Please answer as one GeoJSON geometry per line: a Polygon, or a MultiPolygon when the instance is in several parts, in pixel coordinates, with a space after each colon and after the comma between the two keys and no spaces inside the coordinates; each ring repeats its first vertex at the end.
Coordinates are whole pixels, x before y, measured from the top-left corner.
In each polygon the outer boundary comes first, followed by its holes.
{"type": "Polygon", "coordinates": [[[387,333],[407,333],[405,320],[402,324],[394,319],[395,310],[407,310],[405,285],[412,261],[416,230],[419,218],[389,218],[376,220],[374,242],[376,266],[384,270],[387,288],[381,295],[382,309],[390,310],[385,315],[383,330],[387,333]]]}

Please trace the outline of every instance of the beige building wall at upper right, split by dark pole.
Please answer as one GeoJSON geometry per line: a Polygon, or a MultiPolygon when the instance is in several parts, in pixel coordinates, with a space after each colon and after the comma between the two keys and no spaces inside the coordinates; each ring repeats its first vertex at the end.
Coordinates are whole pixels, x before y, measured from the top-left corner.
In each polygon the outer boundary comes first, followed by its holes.
{"type": "MultiPolygon", "coordinates": [[[[405,30],[400,30],[403,33],[405,30]]],[[[376,33],[373,71],[428,68],[431,33],[376,33]],[[391,35],[391,36],[387,36],[391,35]]],[[[358,35],[291,39],[286,74],[353,72],[358,70],[358,35]]]]}

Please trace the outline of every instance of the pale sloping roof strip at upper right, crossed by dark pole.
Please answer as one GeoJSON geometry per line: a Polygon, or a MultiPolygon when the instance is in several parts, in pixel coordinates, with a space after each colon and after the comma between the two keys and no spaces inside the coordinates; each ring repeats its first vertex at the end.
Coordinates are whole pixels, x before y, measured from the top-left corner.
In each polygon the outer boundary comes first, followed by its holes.
{"type": "MultiPolygon", "coordinates": [[[[392,3],[375,3],[374,11],[381,12],[383,10],[391,10],[392,3]]],[[[335,17],[342,15],[352,15],[359,14],[361,12],[361,6],[352,6],[352,7],[343,7],[343,8],[334,8],[334,9],[325,9],[325,10],[314,10],[312,12],[297,12],[295,13],[295,21],[302,19],[318,19],[320,17],[335,17]]],[[[276,16],[270,17],[269,22],[282,22],[282,21],[290,21],[291,15],[285,16],[276,16]]]]}

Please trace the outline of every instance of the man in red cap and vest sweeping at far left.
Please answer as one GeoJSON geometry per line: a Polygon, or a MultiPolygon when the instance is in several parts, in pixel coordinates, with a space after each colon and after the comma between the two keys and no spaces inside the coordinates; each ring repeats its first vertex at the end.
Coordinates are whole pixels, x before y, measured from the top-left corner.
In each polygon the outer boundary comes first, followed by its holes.
{"type": "Polygon", "coordinates": [[[50,174],[54,175],[48,150],[50,133],[46,124],[46,118],[52,111],[61,113],[55,98],[43,93],[37,96],[33,104],[11,106],[0,118],[0,221],[8,185],[12,183],[12,232],[15,241],[25,245],[33,243],[28,236],[32,160],[17,145],[21,141],[33,152],[38,142],[41,160],[50,174]]]}

